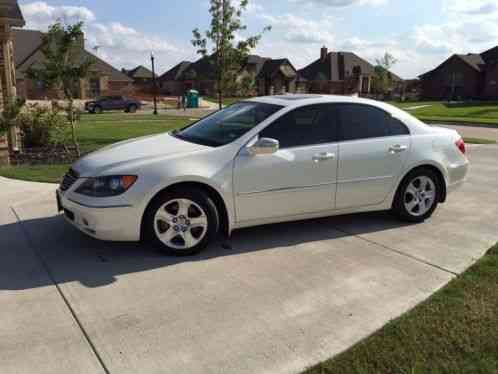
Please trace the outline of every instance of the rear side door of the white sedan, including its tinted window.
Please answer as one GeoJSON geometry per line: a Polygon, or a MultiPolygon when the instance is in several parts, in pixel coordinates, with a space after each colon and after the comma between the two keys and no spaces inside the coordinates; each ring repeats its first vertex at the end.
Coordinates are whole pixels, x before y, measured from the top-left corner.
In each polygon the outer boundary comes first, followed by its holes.
{"type": "Polygon", "coordinates": [[[370,105],[340,104],[336,208],[381,204],[394,188],[411,147],[408,128],[370,105]]]}

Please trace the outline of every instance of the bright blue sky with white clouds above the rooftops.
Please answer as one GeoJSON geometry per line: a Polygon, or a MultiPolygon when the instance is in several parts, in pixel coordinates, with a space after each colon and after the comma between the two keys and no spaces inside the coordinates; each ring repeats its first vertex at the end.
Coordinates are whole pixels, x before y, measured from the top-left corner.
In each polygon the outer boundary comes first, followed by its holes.
{"type": "MultiPolygon", "coordinates": [[[[238,1],[238,0],[234,0],[238,1]]],[[[20,0],[26,28],[47,30],[57,20],[85,23],[86,47],[117,68],[150,66],[163,73],[198,58],[192,30],[210,22],[209,0],[20,0]]],[[[263,35],[254,53],[289,58],[300,69],[320,48],[351,51],[374,63],[384,53],[393,71],[415,78],[453,53],[498,45],[497,0],[249,0],[248,29],[263,35]]]]}

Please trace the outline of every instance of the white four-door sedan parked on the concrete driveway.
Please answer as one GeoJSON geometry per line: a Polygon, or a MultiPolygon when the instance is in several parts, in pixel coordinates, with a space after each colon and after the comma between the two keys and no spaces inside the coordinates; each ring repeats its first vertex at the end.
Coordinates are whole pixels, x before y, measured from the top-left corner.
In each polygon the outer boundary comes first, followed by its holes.
{"type": "Polygon", "coordinates": [[[220,234],[275,222],[384,210],[422,222],[468,166],[457,132],[388,104],[260,97],[83,157],[57,201],[95,238],[188,255],[220,234]]]}

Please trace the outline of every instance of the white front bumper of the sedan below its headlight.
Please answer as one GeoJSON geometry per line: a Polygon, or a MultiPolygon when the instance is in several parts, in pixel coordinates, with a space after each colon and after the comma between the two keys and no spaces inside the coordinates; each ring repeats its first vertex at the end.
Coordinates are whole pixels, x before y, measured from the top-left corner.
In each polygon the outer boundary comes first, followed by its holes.
{"type": "Polygon", "coordinates": [[[93,238],[123,242],[140,240],[141,218],[131,206],[90,207],[70,200],[59,190],[57,200],[66,221],[93,238]]]}

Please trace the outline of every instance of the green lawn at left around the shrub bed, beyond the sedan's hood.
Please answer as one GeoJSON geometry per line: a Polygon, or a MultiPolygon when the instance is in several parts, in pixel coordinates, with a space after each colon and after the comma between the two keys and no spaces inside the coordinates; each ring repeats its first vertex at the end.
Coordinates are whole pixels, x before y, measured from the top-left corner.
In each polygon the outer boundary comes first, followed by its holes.
{"type": "MultiPolygon", "coordinates": [[[[159,134],[190,123],[186,118],[152,114],[104,113],[82,116],[77,127],[82,153],[140,136],[159,134]]],[[[33,182],[59,183],[69,165],[28,165],[0,168],[0,176],[33,182]]]]}

